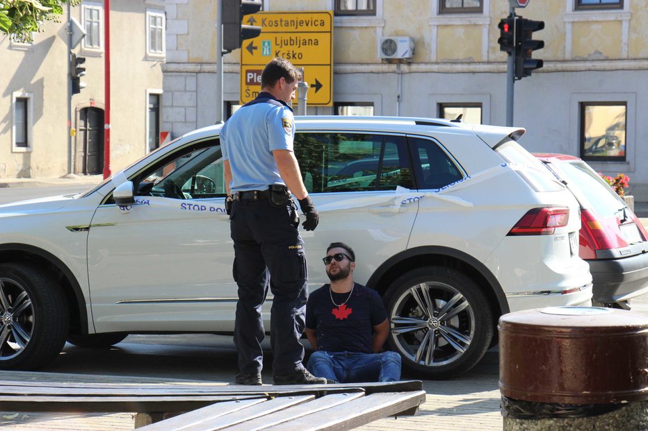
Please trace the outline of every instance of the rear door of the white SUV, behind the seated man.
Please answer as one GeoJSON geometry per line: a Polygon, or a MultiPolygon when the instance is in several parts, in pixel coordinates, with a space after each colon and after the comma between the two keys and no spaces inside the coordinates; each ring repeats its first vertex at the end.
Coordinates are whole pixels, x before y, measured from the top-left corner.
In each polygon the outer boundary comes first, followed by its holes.
{"type": "Polygon", "coordinates": [[[320,212],[301,232],[312,289],[328,282],[321,257],[331,242],[355,249],[354,278],[366,283],[389,257],[407,248],[418,203],[404,135],[362,131],[299,131],[295,156],[320,212]]]}

